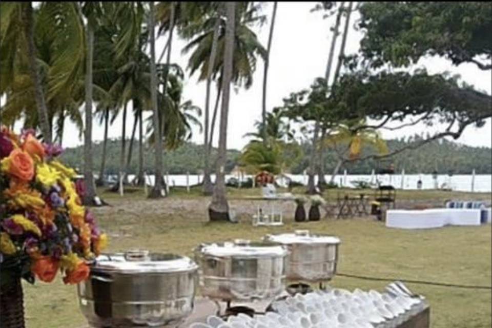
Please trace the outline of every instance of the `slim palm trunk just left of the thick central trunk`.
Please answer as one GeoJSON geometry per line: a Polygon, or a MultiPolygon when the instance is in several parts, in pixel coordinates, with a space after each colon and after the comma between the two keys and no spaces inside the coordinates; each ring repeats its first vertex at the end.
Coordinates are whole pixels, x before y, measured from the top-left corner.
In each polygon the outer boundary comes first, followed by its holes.
{"type": "Polygon", "coordinates": [[[209,68],[207,72],[207,91],[205,95],[205,117],[204,117],[204,140],[203,140],[203,194],[211,195],[214,187],[210,178],[210,147],[209,147],[209,114],[210,114],[210,85],[212,83],[212,74],[214,72],[215,57],[217,55],[217,43],[220,31],[220,16],[217,17],[214,26],[214,38],[212,40],[212,50],[209,58],[209,68]]]}

